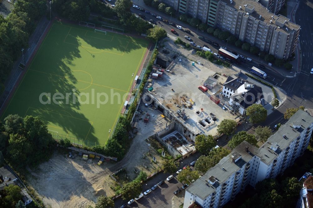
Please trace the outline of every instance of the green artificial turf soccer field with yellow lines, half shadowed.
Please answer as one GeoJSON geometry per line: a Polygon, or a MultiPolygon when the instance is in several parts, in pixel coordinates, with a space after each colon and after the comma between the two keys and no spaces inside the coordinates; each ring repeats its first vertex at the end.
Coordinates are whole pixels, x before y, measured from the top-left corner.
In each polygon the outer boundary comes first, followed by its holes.
{"type": "Polygon", "coordinates": [[[55,22],[2,120],[9,114],[40,116],[54,136],[105,144],[147,44],[144,39],[55,22]]]}

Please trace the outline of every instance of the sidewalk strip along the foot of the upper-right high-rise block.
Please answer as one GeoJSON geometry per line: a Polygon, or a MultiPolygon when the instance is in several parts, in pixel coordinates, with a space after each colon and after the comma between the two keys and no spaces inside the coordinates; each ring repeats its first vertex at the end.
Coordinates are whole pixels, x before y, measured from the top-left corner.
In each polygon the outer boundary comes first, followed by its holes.
{"type": "MultiPolygon", "coordinates": [[[[290,0],[291,1],[291,0],[290,0]]],[[[207,32],[201,32],[200,30],[198,30],[197,32],[197,28],[196,27],[192,27],[190,25],[188,25],[187,23],[184,23],[184,22],[181,22],[179,21],[176,17],[172,17],[171,19],[171,15],[167,15],[163,12],[160,12],[158,11],[157,9],[153,8],[153,7],[150,7],[150,6],[147,6],[143,0],[138,0],[137,1],[137,5],[139,5],[139,7],[145,9],[145,10],[148,10],[154,14],[156,14],[157,16],[161,16],[161,17],[164,17],[165,19],[171,21],[171,22],[174,22],[175,24],[177,25],[180,25],[184,28],[188,28],[190,31],[192,31],[192,33],[195,35],[195,36],[203,36],[213,42],[217,42],[219,45],[221,46],[228,46],[228,44],[226,42],[223,42],[221,40],[219,40],[217,37],[214,37],[213,35],[209,35],[207,32]],[[196,33],[197,32],[197,33],[196,33]]],[[[178,14],[176,14],[178,16],[178,14]]],[[[292,20],[293,21],[293,20],[292,20]]],[[[298,44],[299,45],[299,44],[298,44]]],[[[299,47],[299,46],[298,46],[299,47]]],[[[260,60],[259,59],[259,56],[257,55],[252,55],[250,53],[247,53],[246,51],[242,50],[241,48],[237,48],[237,47],[234,47],[234,46],[231,46],[232,48],[232,51],[235,51],[235,52],[238,52],[239,54],[242,54],[244,55],[245,57],[250,57],[254,60],[255,63],[257,64],[263,64],[263,65],[266,65],[267,68],[271,69],[272,71],[276,72],[277,74],[280,74],[284,77],[295,77],[296,76],[296,72],[297,72],[297,67],[293,67],[293,69],[290,71],[287,71],[286,69],[284,69],[283,67],[270,67],[268,66],[268,63],[266,63],[264,60],[260,60]]],[[[299,50],[298,50],[299,51],[299,50]]],[[[301,60],[300,60],[301,62],[301,60]]],[[[293,66],[296,66],[298,62],[297,60],[297,53],[296,53],[296,57],[295,57],[295,60],[293,62],[290,62],[293,66]]],[[[272,63],[273,64],[273,63],[272,63]]]]}

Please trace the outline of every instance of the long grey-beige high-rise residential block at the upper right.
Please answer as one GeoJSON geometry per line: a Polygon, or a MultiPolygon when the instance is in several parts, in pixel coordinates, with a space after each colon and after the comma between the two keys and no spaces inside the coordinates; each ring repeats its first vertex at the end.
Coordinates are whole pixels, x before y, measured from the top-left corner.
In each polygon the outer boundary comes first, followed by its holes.
{"type": "Polygon", "coordinates": [[[274,14],[284,0],[180,0],[179,5],[180,13],[228,31],[277,58],[288,59],[295,52],[300,26],[274,14]]]}

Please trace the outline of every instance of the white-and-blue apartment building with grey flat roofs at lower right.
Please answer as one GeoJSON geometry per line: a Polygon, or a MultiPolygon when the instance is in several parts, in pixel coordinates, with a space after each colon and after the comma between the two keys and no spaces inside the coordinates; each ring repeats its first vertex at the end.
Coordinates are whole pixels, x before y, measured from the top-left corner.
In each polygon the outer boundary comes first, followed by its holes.
{"type": "Polygon", "coordinates": [[[312,127],[313,117],[299,110],[260,148],[243,141],[186,189],[184,208],[192,204],[221,207],[248,184],[255,186],[265,178],[275,178],[303,154],[312,127]]]}

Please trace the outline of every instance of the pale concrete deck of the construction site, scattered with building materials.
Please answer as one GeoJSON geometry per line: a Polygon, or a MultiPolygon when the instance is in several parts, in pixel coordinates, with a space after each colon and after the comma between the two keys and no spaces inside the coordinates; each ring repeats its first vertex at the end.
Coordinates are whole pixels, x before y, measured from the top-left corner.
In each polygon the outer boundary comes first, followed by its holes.
{"type": "MultiPolygon", "coordinates": [[[[203,133],[214,136],[217,134],[218,124],[223,119],[240,119],[223,110],[221,104],[217,105],[210,100],[210,96],[220,90],[219,84],[206,93],[198,89],[198,86],[208,77],[215,74],[214,71],[204,66],[197,63],[192,66],[192,61],[178,57],[173,64],[171,73],[165,72],[162,77],[153,80],[151,86],[154,92],[151,92],[151,95],[195,134],[203,133]],[[180,58],[181,61],[179,61],[180,58]],[[187,106],[190,106],[192,102],[191,108],[188,108],[187,106]],[[186,118],[182,119],[177,111],[184,111],[186,118]],[[215,121],[212,122],[213,120],[215,121]]],[[[223,81],[219,81],[218,78],[218,82],[223,81]]]]}

